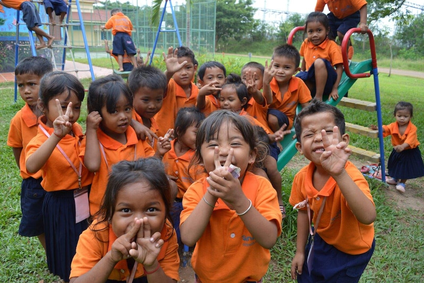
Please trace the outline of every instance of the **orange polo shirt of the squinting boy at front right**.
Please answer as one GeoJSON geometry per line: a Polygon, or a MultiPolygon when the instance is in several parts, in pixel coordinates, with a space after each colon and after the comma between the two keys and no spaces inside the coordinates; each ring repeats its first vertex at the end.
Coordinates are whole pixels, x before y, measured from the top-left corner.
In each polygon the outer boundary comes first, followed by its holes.
{"type": "MultiPolygon", "coordinates": [[[[345,169],[355,184],[374,204],[368,183],[362,173],[350,161],[346,162],[345,169]]],[[[296,174],[290,193],[290,204],[294,206],[307,198],[311,210],[315,212],[312,219],[315,223],[324,196],[327,196],[317,233],[327,244],[341,252],[348,254],[367,252],[374,239],[374,224],[365,225],[356,219],[332,177],[323,189],[316,190],[312,184],[314,171],[315,164],[310,162],[296,174]]],[[[306,210],[306,207],[302,210],[306,210]]]]}

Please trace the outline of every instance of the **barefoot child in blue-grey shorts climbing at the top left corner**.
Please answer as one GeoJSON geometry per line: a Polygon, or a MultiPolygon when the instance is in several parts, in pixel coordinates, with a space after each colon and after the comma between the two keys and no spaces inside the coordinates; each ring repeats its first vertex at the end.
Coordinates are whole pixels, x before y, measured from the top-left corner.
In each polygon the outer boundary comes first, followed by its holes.
{"type": "Polygon", "coordinates": [[[55,37],[39,28],[41,26],[41,20],[34,3],[28,0],[0,0],[0,5],[22,11],[22,18],[25,24],[27,24],[28,30],[34,31],[40,41],[40,45],[36,46],[35,49],[40,50],[52,47],[55,37]],[[47,38],[47,44],[43,37],[47,38]]]}

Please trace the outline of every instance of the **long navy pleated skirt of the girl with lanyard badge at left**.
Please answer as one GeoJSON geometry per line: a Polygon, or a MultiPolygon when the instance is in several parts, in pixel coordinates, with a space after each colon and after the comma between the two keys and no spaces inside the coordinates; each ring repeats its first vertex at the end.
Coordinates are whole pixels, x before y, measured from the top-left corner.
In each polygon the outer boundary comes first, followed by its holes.
{"type": "Polygon", "coordinates": [[[74,190],[47,192],[43,203],[43,218],[47,266],[54,275],[69,282],[78,239],[89,226],[87,220],[75,223],[74,190]]]}

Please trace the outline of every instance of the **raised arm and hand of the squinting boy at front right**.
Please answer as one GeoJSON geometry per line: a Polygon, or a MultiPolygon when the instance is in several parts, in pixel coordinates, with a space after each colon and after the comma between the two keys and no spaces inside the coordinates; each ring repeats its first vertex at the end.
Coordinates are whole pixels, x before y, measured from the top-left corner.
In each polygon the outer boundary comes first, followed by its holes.
{"type": "Polygon", "coordinates": [[[356,219],[363,224],[371,224],[376,217],[375,206],[345,170],[352,150],[347,148],[346,141],[340,141],[341,137],[337,126],[333,128],[331,142],[325,130],[322,130],[321,134],[325,148],[320,157],[321,166],[336,181],[356,219]]]}

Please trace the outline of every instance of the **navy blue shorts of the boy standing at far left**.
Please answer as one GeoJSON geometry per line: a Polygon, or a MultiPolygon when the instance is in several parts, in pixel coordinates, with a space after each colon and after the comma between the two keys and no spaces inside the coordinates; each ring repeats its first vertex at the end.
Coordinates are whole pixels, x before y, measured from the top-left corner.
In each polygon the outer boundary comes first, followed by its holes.
{"type": "Polygon", "coordinates": [[[44,233],[43,201],[46,191],[41,187],[43,178],[32,177],[22,180],[21,210],[22,219],[19,224],[19,235],[34,237],[44,233]]]}

